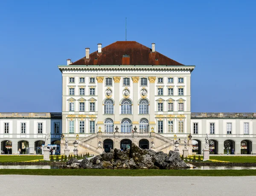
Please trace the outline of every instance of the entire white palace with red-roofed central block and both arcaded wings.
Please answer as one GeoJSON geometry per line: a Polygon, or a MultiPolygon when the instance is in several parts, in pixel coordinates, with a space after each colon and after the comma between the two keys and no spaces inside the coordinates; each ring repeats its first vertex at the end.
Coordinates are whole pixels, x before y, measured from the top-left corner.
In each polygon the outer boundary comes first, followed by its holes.
{"type": "Polygon", "coordinates": [[[61,154],[65,138],[70,153],[74,141],[78,142],[79,154],[125,150],[132,142],[168,152],[174,150],[176,140],[182,153],[188,138],[189,154],[192,150],[201,154],[208,133],[211,153],[223,154],[225,149],[234,149],[236,154],[256,153],[256,113],[191,113],[190,78],[195,66],[160,54],[154,43],[151,48],[136,41],[117,41],[103,48],[99,43],[97,51],[90,53],[86,48],[83,58],[75,62],[68,59],[67,65],[58,68],[62,73],[61,124],[61,119],[55,120],[56,114],[46,114],[49,127],[42,128],[36,114],[0,113],[1,149],[6,141],[12,141],[12,152],[17,153],[22,139],[29,142],[29,153],[34,153],[38,138],[49,133],[52,142],[61,141],[61,154]],[[33,134],[20,133],[20,118],[24,117],[29,119],[27,127],[30,123],[33,134]]]}

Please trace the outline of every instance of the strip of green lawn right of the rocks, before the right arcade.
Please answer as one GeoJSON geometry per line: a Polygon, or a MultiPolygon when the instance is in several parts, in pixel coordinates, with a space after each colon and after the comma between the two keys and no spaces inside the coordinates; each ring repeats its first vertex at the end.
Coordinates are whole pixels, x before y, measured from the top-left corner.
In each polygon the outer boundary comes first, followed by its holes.
{"type": "Polygon", "coordinates": [[[210,159],[233,163],[256,163],[256,156],[210,156],[210,159]]]}

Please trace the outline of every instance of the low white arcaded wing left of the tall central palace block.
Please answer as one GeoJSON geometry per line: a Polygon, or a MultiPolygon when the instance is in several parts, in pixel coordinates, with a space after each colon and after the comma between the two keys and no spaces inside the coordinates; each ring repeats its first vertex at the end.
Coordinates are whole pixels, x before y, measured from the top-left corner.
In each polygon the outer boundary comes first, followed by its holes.
{"type": "Polygon", "coordinates": [[[0,152],[18,154],[21,149],[23,154],[41,154],[45,135],[49,135],[49,144],[54,144],[61,139],[61,128],[61,113],[2,112],[0,152]]]}

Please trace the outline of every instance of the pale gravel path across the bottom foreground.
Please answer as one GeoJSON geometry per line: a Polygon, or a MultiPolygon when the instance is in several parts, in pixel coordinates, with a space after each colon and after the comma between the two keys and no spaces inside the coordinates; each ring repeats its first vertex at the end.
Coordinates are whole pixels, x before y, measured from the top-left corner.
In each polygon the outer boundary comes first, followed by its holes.
{"type": "Polygon", "coordinates": [[[256,176],[19,176],[0,175],[3,196],[253,196],[256,176]]]}

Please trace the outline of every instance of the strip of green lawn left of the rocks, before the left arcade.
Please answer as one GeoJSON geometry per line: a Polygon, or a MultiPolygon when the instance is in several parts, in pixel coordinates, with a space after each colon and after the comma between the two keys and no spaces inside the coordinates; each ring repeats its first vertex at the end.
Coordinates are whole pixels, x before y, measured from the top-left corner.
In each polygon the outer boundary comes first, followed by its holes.
{"type": "Polygon", "coordinates": [[[22,162],[22,161],[32,161],[37,159],[44,159],[44,156],[23,156],[23,155],[1,155],[0,162],[22,162]]]}

